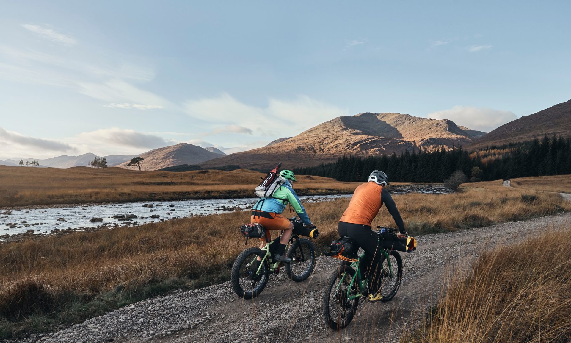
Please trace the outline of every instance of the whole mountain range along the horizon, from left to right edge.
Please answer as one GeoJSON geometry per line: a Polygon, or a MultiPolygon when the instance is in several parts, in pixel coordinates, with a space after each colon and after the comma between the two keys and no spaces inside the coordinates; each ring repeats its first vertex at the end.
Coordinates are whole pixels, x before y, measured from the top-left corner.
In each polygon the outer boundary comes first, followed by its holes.
{"type": "MultiPolygon", "coordinates": [[[[142,170],[157,170],[180,165],[203,168],[239,165],[243,168],[268,169],[283,162],[284,167],[312,166],[335,161],[340,155],[378,155],[406,150],[462,145],[477,150],[493,144],[526,141],[543,135],[571,135],[571,100],[506,123],[486,134],[456,125],[448,119],[413,117],[400,113],[359,113],[344,115],[321,123],[295,137],[275,139],[264,147],[226,155],[215,147],[187,143],[160,147],[140,155],[108,155],[108,166],[127,169],[132,157],[144,158],[142,170]]],[[[69,168],[88,166],[95,154],[36,159],[42,167],[69,168]]],[[[19,159],[0,161],[0,165],[18,166],[19,159]]]]}

